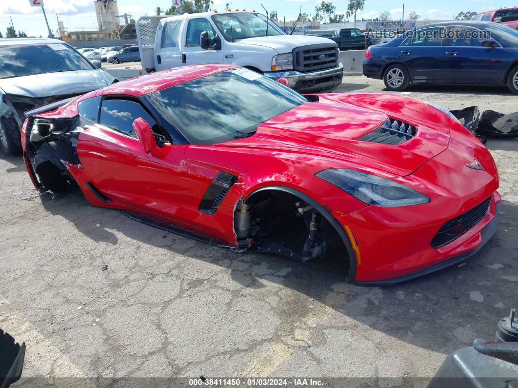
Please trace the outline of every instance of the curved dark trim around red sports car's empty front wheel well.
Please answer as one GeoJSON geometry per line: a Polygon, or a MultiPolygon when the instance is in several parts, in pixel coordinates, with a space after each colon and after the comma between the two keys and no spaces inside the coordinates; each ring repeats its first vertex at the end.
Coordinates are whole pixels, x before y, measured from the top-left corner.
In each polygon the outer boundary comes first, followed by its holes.
{"type": "Polygon", "coordinates": [[[271,186],[263,186],[261,188],[255,189],[246,196],[243,196],[244,202],[248,202],[250,198],[252,198],[257,193],[262,193],[265,191],[281,191],[284,193],[291,194],[301,200],[304,200],[311,206],[313,206],[321,215],[326,219],[327,222],[329,222],[330,225],[333,226],[333,228],[336,230],[340,238],[342,239],[343,245],[347,249],[347,253],[349,256],[349,275],[346,279],[348,283],[353,283],[356,278],[356,254],[353,250],[353,247],[351,245],[351,241],[346,233],[344,231],[343,227],[340,225],[340,223],[333,217],[333,215],[327,211],[322,205],[320,205],[318,202],[316,202],[315,199],[311,198],[309,195],[304,194],[303,192],[300,192],[299,190],[296,190],[294,188],[289,188],[286,186],[279,186],[279,185],[271,185],[271,186]]]}

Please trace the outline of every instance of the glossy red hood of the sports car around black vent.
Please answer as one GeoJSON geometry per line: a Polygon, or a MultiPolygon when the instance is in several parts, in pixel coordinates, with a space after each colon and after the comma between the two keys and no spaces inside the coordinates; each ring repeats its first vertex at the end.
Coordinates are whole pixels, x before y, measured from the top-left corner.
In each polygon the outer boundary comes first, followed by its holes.
{"type": "Polygon", "coordinates": [[[444,126],[432,130],[416,125],[416,136],[398,146],[355,140],[386,119],[380,112],[343,102],[306,103],[266,121],[251,137],[220,145],[304,154],[318,159],[323,168],[350,167],[386,178],[412,174],[448,147],[449,128],[444,126]]]}

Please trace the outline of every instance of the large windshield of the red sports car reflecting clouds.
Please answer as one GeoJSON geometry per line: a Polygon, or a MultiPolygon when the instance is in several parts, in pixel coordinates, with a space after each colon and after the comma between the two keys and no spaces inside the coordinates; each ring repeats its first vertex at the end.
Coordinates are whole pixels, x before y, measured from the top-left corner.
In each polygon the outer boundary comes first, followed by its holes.
{"type": "Polygon", "coordinates": [[[254,71],[236,68],[146,96],[191,144],[253,135],[257,127],[307,100],[254,71]]]}

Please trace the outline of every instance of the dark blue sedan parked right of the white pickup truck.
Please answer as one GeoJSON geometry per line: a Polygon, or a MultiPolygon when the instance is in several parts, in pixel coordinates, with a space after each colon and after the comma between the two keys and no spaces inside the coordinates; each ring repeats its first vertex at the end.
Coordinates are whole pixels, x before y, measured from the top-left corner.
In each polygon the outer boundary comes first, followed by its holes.
{"type": "Polygon", "coordinates": [[[493,22],[428,24],[370,47],[363,74],[383,79],[391,91],[410,83],[444,83],[507,85],[518,94],[518,31],[493,22]]]}

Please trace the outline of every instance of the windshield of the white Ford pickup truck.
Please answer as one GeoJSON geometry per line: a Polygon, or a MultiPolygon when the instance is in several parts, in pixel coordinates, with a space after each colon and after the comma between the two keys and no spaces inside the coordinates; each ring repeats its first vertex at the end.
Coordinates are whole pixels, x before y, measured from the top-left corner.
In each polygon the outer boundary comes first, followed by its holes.
{"type": "Polygon", "coordinates": [[[271,20],[267,23],[266,17],[261,13],[221,13],[220,15],[213,15],[212,20],[225,40],[229,42],[267,35],[286,35],[271,20]],[[268,33],[266,33],[267,28],[268,33]]]}

